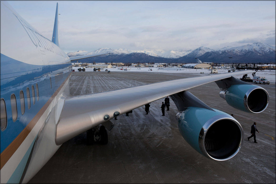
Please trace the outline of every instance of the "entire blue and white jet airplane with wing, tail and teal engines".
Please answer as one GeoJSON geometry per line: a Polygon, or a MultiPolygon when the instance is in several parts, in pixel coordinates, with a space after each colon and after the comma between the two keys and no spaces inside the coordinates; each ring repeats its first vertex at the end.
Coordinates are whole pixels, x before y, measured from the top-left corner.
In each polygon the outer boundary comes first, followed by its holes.
{"type": "Polygon", "coordinates": [[[87,131],[89,141],[107,143],[110,119],[166,96],[180,112],[179,131],[185,140],[206,157],[224,161],[240,150],[242,127],[186,90],[215,81],[229,105],[249,113],[264,111],[269,102],[266,90],[232,77],[253,71],[69,97],[71,61],[91,56],[69,58],[59,48],[58,4],[50,41],[1,1],[1,183],[27,183],[62,143],[82,132],[87,131]],[[229,131],[222,131],[224,127],[229,131]]]}

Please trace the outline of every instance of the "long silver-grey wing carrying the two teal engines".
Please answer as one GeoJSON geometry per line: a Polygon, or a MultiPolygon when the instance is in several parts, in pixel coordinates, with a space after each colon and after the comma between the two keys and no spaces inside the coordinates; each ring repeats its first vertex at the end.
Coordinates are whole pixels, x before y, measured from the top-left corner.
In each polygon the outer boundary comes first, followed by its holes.
{"type": "MultiPolygon", "coordinates": [[[[119,114],[124,114],[166,96],[178,94],[209,82],[231,79],[231,76],[253,72],[246,70],[177,79],[65,99],[60,121],[57,125],[56,143],[62,144],[119,114]]],[[[247,83],[237,80],[233,84],[247,83]]]]}

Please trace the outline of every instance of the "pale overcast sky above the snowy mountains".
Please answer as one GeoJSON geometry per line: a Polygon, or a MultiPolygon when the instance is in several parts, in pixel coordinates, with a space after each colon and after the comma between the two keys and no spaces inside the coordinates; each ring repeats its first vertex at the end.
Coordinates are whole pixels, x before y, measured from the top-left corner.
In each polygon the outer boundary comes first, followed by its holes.
{"type": "Polygon", "coordinates": [[[50,40],[57,2],[65,52],[275,46],[275,1],[9,1],[50,40]]]}

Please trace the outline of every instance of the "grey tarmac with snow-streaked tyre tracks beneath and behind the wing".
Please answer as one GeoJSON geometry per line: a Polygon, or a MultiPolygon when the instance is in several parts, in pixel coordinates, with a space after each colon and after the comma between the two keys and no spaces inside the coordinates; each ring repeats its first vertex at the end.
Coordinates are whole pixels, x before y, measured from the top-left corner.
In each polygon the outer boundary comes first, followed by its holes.
{"type": "MultiPolygon", "coordinates": [[[[194,76],[198,74],[76,71],[70,95],[194,76]]],[[[275,84],[256,85],[266,89],[270,98],[259,114],[229,106],[219,97],[215,82],[188,90],[210,107],[233,114],[243,127],[243,146],[228,161],[213,161],[195,151],[179,133],[178,111],[171,99],[170,111],[161,116],[161,99],[150,103],[147,115],[142,106],[129,116],[112,119],[115,126],[108,132],[107,145],[87,146],[86,132],[63,143],[29,183],[275,183],[275,84]],[[260,132],[258,143],[247,140],[253,122],[260,132]]]]}

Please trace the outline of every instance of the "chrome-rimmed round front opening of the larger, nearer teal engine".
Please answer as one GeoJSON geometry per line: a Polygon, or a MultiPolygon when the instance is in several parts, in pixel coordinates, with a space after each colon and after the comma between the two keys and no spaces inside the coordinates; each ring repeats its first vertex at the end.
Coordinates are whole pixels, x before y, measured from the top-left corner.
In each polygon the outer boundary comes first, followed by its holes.
{"type": "Polygon", "coordinates": [[[215,121],[210,119],[205,123],[200,132],[199,146],[208,158],[225,161],[238,153],[242,140],[243,130],[239,122],[224,117],[215,121]]]}

